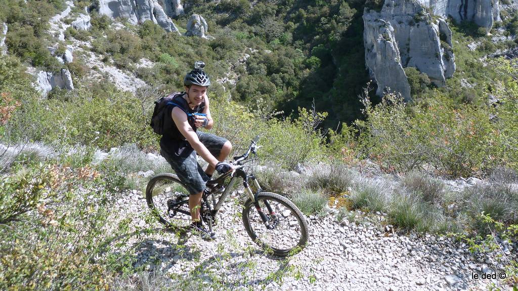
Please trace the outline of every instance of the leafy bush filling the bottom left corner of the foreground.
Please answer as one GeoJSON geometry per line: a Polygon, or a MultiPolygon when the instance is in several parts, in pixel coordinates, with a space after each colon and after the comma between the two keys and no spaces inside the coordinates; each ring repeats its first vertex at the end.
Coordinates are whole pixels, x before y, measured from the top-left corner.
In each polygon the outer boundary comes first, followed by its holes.
{"type": "Polygon", "coordinates": [[[125,236],[123,228],[107,235],[116,197],[94,177],[88,168],[28,165],[0,180],[1,289],[104,289],[116,269],[131,266],[110,249],[125,236]]]}

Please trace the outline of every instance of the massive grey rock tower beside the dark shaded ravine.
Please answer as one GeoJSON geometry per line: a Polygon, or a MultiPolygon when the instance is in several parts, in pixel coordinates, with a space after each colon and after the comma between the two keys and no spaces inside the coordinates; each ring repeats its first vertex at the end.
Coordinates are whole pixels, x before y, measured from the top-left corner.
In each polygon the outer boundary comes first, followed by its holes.
{"type": "Polygon", "coordinates": [[[451,30],[443,19],[431,18],[418,2],[386,0],[381,12],[366,10],[363,19],[365,60],[378,83],[378,94],[388,87],[410,99],[407,78],[400,72],[405,67],[419,69],[438,86],[453,76],[451,30]]]}

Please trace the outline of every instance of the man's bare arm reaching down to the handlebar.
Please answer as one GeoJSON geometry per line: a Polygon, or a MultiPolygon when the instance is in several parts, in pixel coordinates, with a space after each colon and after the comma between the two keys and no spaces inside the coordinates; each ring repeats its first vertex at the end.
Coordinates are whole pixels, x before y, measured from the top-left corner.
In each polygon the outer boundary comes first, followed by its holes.
{"type": "Polygon", "coordinates": [[[209,150],[199,141],[198,135],[194,132],[193,128],[187,121],[187,115],[180,108],[175,107],[172,109],[171,118],[175,122],[176,127],[180,130],[180,133],[185,139],[191,144],[191,147],[203,158],[209,165],[215,167],[219,161],[216,159],[209,150]]]}

